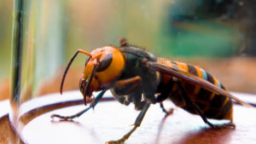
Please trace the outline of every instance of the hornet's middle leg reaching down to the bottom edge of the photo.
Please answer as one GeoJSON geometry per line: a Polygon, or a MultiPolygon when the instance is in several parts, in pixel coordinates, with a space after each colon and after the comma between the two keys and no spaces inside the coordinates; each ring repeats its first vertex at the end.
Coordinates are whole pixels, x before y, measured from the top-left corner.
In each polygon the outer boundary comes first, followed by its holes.
{"type": "Polygon", "coordinates": [[[122,143],[124,143],[130,137],[130,135],[137,129],[137,127],[139,127],[142,124],[143,118],[144,118],[146,112],[148,111],[149,106],[150,106],[150,102],[147,101],[145,106],[143,107],[143,110],[137,116],[136,121],[134,123],[134,127],[127,134],[125,134],[118,141],[108,141],[106,143],[108,143],[108,144],[122,144],[122,143]]]}

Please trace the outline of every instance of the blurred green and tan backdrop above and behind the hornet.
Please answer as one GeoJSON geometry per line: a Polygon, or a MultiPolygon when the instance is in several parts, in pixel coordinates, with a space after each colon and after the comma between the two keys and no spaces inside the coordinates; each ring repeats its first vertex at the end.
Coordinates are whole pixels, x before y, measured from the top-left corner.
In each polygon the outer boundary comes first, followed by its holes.
{"type": "MultiPolygon", "coordinates": [[[[254,8],[248,0],[24,0],[24,78],[39,87],[76,49],[118,45],[120,36],[172,60],[253,57],[254,8]]],[[[0,0],[0,84],[10,77],[13,9],[0,0]]],[[[74,66],[83,65],[79,56],[74,66]]]]}

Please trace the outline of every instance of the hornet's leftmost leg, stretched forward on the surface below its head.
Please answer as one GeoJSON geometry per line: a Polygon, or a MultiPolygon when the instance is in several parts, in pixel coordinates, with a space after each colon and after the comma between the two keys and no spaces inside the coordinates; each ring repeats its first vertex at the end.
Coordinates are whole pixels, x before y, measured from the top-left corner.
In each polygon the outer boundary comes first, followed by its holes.
{"type": "Polygon", "coordinates": [[[87,112],[90,110],[90,108],[93,108],[96,106],[96,104],[102,99],[102,96],[105,94],[106,90],[103,90],[99,95],[96,95],[95,101],[90,103],[90,107],[85,108],[83,111],[78,112],[72,116],[60,116],[58,114],[53,114],[50,117],[51,118],[60,118],[61,120],[72,120],[73,118],[81,116],[84,112],[87,112]]]}

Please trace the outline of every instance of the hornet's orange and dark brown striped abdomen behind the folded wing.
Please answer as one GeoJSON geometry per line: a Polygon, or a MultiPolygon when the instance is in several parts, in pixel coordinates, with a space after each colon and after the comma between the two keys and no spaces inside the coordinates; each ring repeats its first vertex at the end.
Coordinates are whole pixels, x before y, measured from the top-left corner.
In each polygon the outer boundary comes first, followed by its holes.
{"type": "MultiPolygon", "coordinates": [[[[183,72],[189,72],[199,78],[203,78],[208,82],[215,84],[221,89],[225,89],[224,86],[218,82],[211,74],[201,69],[199,66],[192,66],[183,62],[170,61],[159,59],[158,62],[170,66],[174,69],[183,72]]],[[[215,119],[230,119],[232,120],[232,101],[230,97],[224,95],[216,95],[207,89],[193,84],[183,82],[184,88],[191,101],[194,101],[207,118],[215,119]]],[[[162,74],[162,81],[159,86],[161,95],[157,98],[158,101],[164,101],[166,98],[170,98],[177,107],[182,107],[184,110],[197,114],[194,108],[191,107],[183,100],[178,84],[172,80],[172,77],[166,74],[162,74]]]]}

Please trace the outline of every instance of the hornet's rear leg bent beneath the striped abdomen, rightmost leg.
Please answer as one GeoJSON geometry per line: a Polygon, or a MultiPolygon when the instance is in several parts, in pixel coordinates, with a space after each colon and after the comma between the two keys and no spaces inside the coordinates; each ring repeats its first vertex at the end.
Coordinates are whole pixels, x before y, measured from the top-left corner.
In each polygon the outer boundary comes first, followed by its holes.
{"type": "Polygon", "coordinates": [[[187,94],[186,90],[184,89],[184,86],[183,84],[181,83],[180,80],[177,80],[177,84],[179,86],[179,90],[181,92],[181,94],[183,95],[183,98],[184,100],[186,101],[187,105],[191,105],[195,112],[197,112],[201,118],[203,119],[203,121],[208,124],[212,129],[235,129],[236,128],[236,125],[233,124],[232,122],[228,123],[228,124],[221,124],[221,125],[214,125],[212,123],[210,123],[208,120],[207,120],[207,117],[204,115],[204,113],[201,111],[201,108],[198,107],[196,105],[196,103],[194,101],[191,101],[190,98],[189,98],[189,95],[187,94]]]}

